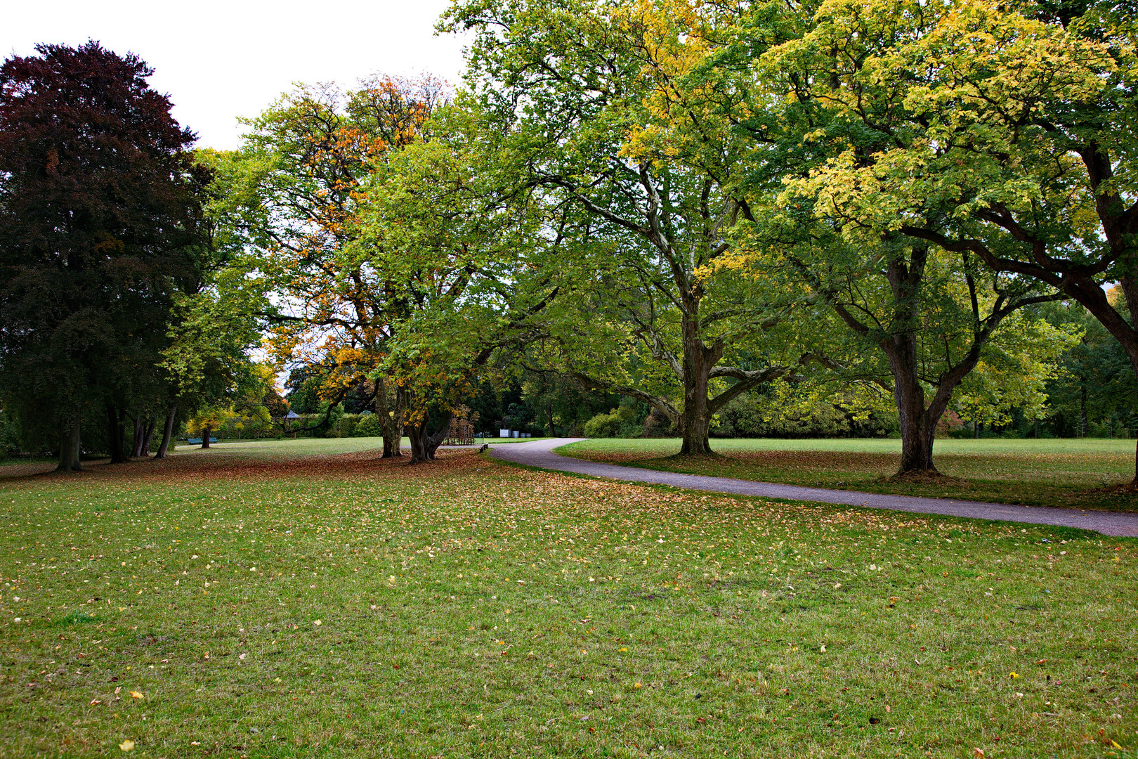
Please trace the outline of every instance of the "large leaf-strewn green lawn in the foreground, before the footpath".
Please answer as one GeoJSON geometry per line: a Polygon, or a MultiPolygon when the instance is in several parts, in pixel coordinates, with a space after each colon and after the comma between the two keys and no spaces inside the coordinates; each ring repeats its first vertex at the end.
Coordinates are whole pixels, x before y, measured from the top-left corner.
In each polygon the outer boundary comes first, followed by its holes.
{"type": "Polygon", "coordinates": [[[272,455],[0,480],[0,756],[1138,748],[1138,541],[272,455]]]}

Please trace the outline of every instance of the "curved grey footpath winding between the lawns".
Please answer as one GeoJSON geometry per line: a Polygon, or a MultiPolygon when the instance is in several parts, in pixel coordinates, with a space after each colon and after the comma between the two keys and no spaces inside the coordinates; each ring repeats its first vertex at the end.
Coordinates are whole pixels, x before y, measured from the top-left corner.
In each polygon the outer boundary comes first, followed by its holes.
{"type": "Polygon", "coordinates": [[[831,490],[820,487],[756,482],[729,477],[677,475],[675,472],[660,472],[637,467],[602,464],[595,461],[585,461],[584,459],[571,459],[552,452],[552,448],[558,446],[584,439],[586,438],[563,437],[534,440],[533,443],[492,445],[490,455],[516,464],[552,469],[560,472],[588,475],[589,477],[604,477],[625,482],[650,482],[692,490],[751,495],[783,501],[815,501],[818,503],[835,503],[865,509],[909,511],[918,514],[946,514],[948,517],[990,519],[1029,525],[1055,525],[1056,527],[1077,527],[1079,529],[1094,530],[1103,535],[1138,536],[1138,514],[1112,511],[1082,511],[1079,509],[1059,509],[1055,506],[1013,506],[1004,503],[922,498],[910,495],[881,495],[879,493],[859,493],[857,490],[831,490]]]}

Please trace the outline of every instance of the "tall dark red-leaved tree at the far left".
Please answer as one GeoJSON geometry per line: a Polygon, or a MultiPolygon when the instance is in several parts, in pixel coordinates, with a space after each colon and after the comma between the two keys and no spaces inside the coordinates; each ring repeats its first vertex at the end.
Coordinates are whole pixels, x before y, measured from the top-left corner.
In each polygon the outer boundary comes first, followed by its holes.
{"type": "Polygon", "coordinates": [[[42,44],[0,67],[0,391],[60,430],[165,390],[156,368],[173,294],[199,281],[195,135],[134,55],[42,44]]]}

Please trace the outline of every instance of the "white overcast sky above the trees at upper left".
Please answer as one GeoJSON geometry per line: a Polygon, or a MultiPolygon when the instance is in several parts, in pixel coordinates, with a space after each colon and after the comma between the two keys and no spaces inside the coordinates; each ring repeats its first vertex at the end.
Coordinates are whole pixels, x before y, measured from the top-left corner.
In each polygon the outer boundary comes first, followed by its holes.
{"type": "Polygon", "coordinates": [[[135,52],[155,68],[174,116],[198,147],[234,148],[238,116],[255,116],[294,82],[354,84],[373,73],[431,73],[453,84],[462,41],[435,35],[448,0],[263,2],[198,0],[13,0],[0,22],[0,55],[33,55],[38,42],[88,39],[135,52]]]}

